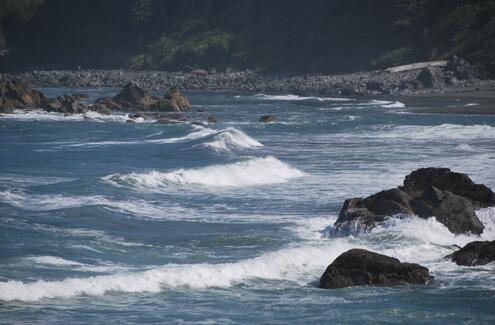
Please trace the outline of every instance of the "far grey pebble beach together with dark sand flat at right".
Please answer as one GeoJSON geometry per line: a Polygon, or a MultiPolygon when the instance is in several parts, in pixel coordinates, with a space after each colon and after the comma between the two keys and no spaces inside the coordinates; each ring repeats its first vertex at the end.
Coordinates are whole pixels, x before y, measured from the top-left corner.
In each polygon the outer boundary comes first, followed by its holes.
{"type": "Polygon", "coordinates": [[[135,81],[149,90],[178,85],[185,91],[295,94],[317,97],[374,97],[401,101],[412,113],[495,114],[495,80],[455,80],[417,89],[404,88],[423,70],[388,73],[385,70],[341,75],[263,75],[230,71],[197,75],[185,72],[124,70],[51,70],[0,73],[0,81],[21,80],[32,88],[121,88],[135,81]],[[431,99],[445,102],[432,107],[431,99]]]}

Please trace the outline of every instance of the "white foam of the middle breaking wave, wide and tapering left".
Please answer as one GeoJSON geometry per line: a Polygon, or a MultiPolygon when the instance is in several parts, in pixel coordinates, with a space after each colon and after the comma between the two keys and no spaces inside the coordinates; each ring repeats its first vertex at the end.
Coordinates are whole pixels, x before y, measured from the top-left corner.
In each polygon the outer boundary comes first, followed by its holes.
{"type": "Polygon", "coordinates": [[[115,186],[131,186],[141,190],[160,190],[171,184],[204,185],[211,187],[243,187],[284,183],[304,173],[275,157],[252,158],[227,165],[171,172],[153,170],[148,173],[112,174],[104,181],[115,186]]]}

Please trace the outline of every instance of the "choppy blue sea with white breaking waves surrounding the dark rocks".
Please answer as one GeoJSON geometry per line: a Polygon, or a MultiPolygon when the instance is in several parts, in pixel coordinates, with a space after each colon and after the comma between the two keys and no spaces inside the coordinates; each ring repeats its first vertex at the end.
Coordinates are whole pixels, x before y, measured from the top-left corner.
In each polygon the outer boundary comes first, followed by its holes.
{"type": "MultiPolygon", "coordinates": [[[[479,237],[433,219],[351,237],[331,227],[345,198],[419,167],[495,188],[495,117],[410,114],[375,99],[189,97],[204,110],[196,119],[219,123],[0,117],[0,322],[495,322],[495,265],[442,259],[479,237]],[[257,123],[264,114],[279,122],[257,123]],[[326,266],[355,247],[421,263],[435,280],[318,289],[326,266]]],[[[495,210],[479,216],[481,239],[493,240],[495,210]]]]}

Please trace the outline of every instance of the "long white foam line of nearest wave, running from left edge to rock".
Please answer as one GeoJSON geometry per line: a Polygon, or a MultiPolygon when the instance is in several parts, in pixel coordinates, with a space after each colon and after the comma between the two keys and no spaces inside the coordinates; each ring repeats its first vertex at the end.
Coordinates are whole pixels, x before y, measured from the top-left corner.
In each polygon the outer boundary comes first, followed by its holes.
{"type": "Polygon", "coordinates": [[[342,240],[331,247],[296,247],[223,264],[166,265],[145,272],[121,273],[61,281],[0,282],[0,300],[37,301],[111,292],[160,292],[166,289],[229,287],[254,279],[304,285],[329,261],[351,246],[342,240]]]}

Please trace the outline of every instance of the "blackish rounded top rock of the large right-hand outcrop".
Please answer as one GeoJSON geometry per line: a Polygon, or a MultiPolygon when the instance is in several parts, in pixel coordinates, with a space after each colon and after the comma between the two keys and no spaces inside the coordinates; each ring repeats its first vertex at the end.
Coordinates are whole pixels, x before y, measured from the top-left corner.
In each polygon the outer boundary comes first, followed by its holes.
{"type": "Polygon", "coordinates": [[[491,189],[474,183],[466,174],[448,168],[415,170],[404,179],[403,190],[412,196],[420,196],[431,186],[468,198],[476,209],[495,205],[495,194],[491,189]]]}

